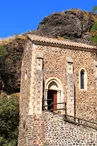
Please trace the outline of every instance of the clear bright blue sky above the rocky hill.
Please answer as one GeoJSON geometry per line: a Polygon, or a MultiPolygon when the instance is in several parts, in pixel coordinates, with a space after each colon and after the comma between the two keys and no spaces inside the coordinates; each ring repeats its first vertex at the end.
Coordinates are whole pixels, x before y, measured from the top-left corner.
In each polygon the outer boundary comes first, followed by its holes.
{"type": "Polygon", "coordinates": [[[0,38],[36,30],[54,12],[78,8],[92,11],[96,0],[0,0],[0,38]]]}

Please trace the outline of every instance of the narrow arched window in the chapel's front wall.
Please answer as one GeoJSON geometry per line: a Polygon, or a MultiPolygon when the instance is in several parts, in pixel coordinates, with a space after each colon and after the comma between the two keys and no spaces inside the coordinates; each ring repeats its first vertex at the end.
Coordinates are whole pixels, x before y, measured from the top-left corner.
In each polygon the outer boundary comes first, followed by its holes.
{"type": "Polygon", "coordinates": [[[80,89],[87,90],[87,73],[85,69],[80,70],[80,89]]]}

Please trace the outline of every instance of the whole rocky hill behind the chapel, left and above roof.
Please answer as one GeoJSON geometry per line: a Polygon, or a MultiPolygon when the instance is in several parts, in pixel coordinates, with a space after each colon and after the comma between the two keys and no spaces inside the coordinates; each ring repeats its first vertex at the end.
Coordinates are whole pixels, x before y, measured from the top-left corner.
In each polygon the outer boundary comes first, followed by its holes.
{"type": "MultiPolygon", "coordinates": [[[[40,22],[37,30],[28,33],[96,44],[97,15],[78,9],[53,13],[40,22]]],[[[0,90],[19,92],[21,60],[26,40],[24,34],[0,41],[0,90]]]]}

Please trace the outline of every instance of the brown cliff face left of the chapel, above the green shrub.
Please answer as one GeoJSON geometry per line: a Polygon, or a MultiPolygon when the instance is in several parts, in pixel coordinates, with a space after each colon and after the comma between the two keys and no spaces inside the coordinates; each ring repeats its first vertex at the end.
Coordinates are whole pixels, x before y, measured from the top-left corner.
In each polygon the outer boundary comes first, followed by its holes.
{"type": "Polygon", "coordinates": [[[15,37],[0,45],[0,89],[7,92],[20,91],[21,60],[26,38],[15,37]]]}

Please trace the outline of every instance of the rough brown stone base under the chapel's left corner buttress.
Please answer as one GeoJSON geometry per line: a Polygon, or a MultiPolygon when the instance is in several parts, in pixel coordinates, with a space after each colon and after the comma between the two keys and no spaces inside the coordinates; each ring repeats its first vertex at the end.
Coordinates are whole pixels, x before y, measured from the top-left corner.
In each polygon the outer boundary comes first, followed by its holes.
{"type": "Polygon", "coordinates": [[[21,122],[18,146],[43,146],[44,122],[43,116],[28,116],[21,122]]]}

